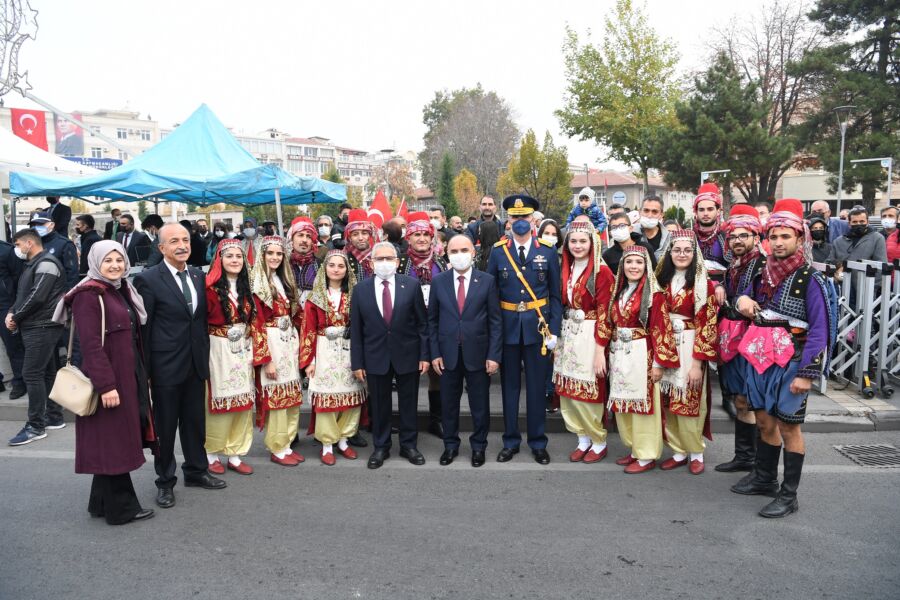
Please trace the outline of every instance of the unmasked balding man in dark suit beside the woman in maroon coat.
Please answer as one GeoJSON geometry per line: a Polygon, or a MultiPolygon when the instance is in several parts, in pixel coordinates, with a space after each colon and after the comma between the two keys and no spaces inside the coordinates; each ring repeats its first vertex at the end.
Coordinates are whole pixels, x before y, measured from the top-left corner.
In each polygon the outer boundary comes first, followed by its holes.
{"type": "MultiPolygon", "coordinates": [[[[124,220],[124,218],[123,218],[124,220]]],[[[150,375],[153,416],[159,437],[156,503],[175,504],[175,431],[184,454],[185,486],[220,489],[225,482],[207,471],[205,386],[209,378],[205,278],[187,266],[191,237],[169,223],[159,230],[163,261],[145,269],[134,284],[144,299],[144,356],[150,375]]]]}

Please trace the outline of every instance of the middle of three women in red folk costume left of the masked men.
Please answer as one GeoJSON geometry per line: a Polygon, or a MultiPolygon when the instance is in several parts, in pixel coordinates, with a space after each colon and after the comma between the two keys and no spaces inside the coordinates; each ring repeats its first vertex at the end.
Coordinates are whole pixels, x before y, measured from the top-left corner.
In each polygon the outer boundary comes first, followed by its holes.
{"type": "Polygon", "coordinates": [[[300,380],[301,318],[297,286],[285,257],[284,239],[265,236],[250,280],[256,301],[253,364],[257,369],[257,425],[265,427],[271,461],[293,467],[305,459],[291,450],[303,401],[300,380]]]}

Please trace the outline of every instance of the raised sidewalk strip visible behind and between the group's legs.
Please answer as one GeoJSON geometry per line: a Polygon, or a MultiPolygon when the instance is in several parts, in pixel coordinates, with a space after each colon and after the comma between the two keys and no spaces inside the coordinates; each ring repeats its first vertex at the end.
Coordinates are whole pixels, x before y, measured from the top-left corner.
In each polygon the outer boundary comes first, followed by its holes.
{"type": "MultiPolygon", "coordinates": [[[[503,405],[500,394],[500,377],[491,378],[491,431],[503,431],[503,405]]],[[[806,423],[804,431],[815,433],[833,433],[844,431],[898,431],[900,430],[900,397],[889,400],[878,397],[867,399],[851,389],[836,390],[834,382],[829,382],[826,395],[813,391],[809,395],[806,423]]],[[[520,397],[519,427],[525,431],[525,392],[524,385],[520,397]]],[[[428,384],[427,378],[419,385],[419,426],[427,427],[428,423],[428,384]]],[[[713,433],[732,433],[734,427],[731,419],[722,409],[722,396],[719,386],[713,382],[712,397],[712,430],[713,433]]],[[[27,398],[10,400],[9,392],[0,393],[0,421],[19,421],[27,418],[27,398]]],[[[309,403],[304,401],[302,411],[309,411],[309,403]]],[[[469,431],[472,428],[469,418],[468,401],[465,394],[461,401],[460,428],[469,431]]],[[[67,413],[67,421],[74,421],[74,416],[67,413]]],[[[305,427],[304,418],[302,425],[305,427]]],[[[548,433],[565,431],[565,424],[559,413],[547,416],[548,433]]]]}

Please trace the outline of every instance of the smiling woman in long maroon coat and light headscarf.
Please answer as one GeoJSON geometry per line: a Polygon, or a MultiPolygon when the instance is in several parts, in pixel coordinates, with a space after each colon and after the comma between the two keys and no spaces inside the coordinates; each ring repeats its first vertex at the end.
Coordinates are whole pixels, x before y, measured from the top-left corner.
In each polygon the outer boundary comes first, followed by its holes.
{"type": "Polygon", "coordinates": [[[75,472],[94,475],[88,512],[110,525],[153,516],[141,507],[131,482],[131,471],[144,464],[143,448],[154,447],[156,435],[140,341],[147,312],[128,282],[129,269],[121,244],[95,243],[87,277],[60,300],[54,314],[65,323],[71,309],[81,370],[100,395],[97,411],[75,420],[75,472]]]}

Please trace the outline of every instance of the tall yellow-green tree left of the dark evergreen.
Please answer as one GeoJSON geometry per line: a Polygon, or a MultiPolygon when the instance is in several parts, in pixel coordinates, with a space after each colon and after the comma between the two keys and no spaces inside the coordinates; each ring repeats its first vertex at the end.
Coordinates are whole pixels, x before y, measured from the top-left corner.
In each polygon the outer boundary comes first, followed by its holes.
{"type": "Polygon", "coordinates": [[[631,0],[617,0],[600,46],[590,43],[590,32],[582,45],[575,31],[566,31],[567,83],[563,108],[556,111],[563,132],[606,146],[609,158],[637,165],[649,189],[653,142],[676,124],[678,54],[672,42],[657,36],[631,0]]]}

